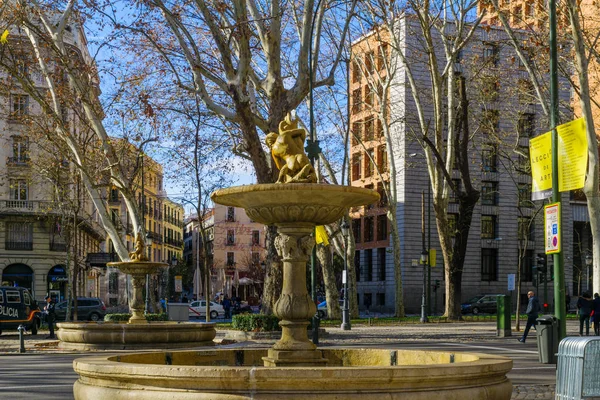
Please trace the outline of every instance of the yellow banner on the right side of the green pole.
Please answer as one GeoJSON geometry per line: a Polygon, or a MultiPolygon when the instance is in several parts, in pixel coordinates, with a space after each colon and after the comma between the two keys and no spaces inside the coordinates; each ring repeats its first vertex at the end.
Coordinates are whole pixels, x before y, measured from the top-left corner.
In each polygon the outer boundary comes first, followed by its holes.
{"type": "Polygon", "coordinates": [[[558,190],[581,189],[585,183],[588,144],[583,118],[562,124],[558,133],[558,190]]]}

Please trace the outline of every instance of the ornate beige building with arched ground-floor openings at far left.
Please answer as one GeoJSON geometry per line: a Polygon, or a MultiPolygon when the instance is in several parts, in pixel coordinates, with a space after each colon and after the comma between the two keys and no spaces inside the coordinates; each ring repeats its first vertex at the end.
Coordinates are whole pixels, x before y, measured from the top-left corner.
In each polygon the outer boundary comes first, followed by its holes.
{"type": "MultiPolygon", "coordinates": [[[[12,30],[11,43],[18,41],[19,32],[12,30]]],[[[89,57],[80,27],[73,24],[65,41],[89,57]]],[[[12,50],[23,79],[43,90],[32,50],[12,50]]],[[[0,88],[0,281],[27,287],[37,300],[47,294],[62,300],[77,265],[83,271],[75,281],[78,293],[95,289],[98,273],[86,267],[85,258],[99,251],[105,233],[78,172],[44,139],[47,118],[19,81],[0,72],[0,88]]],[[[68,107],[62,112],[73,137],[85,136],[77,113],[68,107]]]]}

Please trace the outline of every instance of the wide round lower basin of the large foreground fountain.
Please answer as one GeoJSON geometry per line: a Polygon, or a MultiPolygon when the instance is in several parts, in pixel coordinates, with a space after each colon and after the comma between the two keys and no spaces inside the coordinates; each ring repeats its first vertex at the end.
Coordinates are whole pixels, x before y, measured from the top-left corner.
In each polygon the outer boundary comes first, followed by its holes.
{"type": "Polygon", "coordinates": [[[264,367],[267,349],[88,357],[76,399],[510,399],[512,361],[478,353],[319,349],[327,366],[264,367]]]}

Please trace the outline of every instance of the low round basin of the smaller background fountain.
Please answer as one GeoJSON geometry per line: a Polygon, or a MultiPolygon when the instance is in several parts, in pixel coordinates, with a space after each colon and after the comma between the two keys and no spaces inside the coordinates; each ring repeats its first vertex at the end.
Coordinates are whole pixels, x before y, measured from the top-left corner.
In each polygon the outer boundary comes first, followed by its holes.
{"type": "Polygon", "coordinates": [[[214,322],[60,322],[60,348],[132,350],[213,346],[214,322]]]}

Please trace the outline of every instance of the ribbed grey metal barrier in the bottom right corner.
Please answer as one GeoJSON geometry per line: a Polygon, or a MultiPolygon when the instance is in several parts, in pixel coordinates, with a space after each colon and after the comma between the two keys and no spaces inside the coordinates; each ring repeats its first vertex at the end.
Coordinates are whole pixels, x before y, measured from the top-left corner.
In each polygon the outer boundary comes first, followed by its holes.
{"type": "Polygon", "coordinates": [[[580,400],[600,396],[600,337],[567,337],[558,345],[556,397],[580,400]]]}

